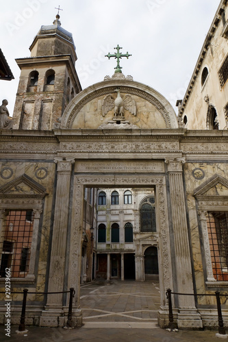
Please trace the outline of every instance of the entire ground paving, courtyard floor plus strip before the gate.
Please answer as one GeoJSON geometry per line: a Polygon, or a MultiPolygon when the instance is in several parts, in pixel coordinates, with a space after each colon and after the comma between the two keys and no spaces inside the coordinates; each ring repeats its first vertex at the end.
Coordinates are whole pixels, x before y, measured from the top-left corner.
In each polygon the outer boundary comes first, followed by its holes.
{"type": "Polygon", "coordinates": [[[97,281],[81,287],[81,308],[84,326],[72,330],[63,328],[26,327],[28,332],[16,334],[11,327],[6,337],[0,327],[0,341],[31,342],[215,342],[216,331],[179,330],[168,332],[157,326],[160,306],[158,282],[133,280],[97,281]]]}

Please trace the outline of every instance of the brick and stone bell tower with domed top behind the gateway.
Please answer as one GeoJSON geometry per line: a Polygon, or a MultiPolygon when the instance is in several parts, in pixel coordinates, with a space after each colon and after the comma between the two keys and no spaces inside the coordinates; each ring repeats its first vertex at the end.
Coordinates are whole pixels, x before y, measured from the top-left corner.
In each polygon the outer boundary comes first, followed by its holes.
{"type": "Polygon", "coordinates": [[[31,57],[16,59],[21,77],[14,129],[56,129],[64,109],[81,91],[73,36],[61,27],[59,14],[53,25],[40,28],[29,50],[31,57]]]}

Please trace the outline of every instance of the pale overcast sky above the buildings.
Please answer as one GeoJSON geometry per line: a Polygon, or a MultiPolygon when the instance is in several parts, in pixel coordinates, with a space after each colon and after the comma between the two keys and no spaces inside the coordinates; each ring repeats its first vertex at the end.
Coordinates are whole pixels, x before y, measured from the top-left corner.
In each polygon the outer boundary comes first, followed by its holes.
{"type": "Polygon", "coordinates": [[[41,25],[50,25],[58,5],[62,27],[73,34],[82,88],[112,76],[116,61],[104,57],[119,44],[124,75],[164,95],[175,108],[183,98],[220,0],[10,0],[1,1],[1,49],[15,77],[0,82],[12,115],[20,69],[41,25]]]}

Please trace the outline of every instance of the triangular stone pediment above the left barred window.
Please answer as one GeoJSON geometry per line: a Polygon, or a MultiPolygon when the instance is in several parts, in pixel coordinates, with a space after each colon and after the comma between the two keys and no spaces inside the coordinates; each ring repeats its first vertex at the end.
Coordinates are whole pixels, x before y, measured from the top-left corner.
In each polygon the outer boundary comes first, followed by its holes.
{"type": "Polygon", "coordinates": [[[27,174],[0,187],[0,196],[46,196],[46,188],[31,179],[27,174]]]}

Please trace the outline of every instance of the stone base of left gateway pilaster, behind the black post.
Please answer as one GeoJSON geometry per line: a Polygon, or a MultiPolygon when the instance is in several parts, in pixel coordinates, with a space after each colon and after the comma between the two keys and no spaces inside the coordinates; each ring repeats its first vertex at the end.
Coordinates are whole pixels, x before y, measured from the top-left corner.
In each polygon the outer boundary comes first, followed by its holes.
{"type": "MultiPolygon", "coordinates": [[[[68,319],[68,308],[45,306],[40,316],[40,326],[51,328],[63,328],[66,326],[68,319]]],[[[73,328],[82,326],[81,309],[73,309],[72,311],[73,328]]]]}

